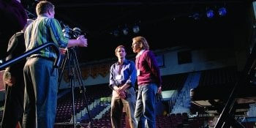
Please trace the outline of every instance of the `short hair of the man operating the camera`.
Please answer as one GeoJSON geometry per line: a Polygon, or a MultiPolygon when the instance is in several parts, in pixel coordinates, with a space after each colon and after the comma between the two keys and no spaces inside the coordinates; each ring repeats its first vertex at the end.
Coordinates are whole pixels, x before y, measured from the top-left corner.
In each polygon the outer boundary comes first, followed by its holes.
{"type": "Polygon", "coordinates": [[[42,15],[48,11],[53,11],[54,5],[50,1],[39,1],[37,3],[36,11],[37,15],[42,15]]]}

